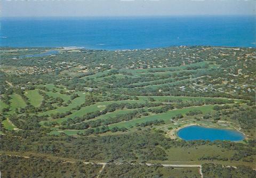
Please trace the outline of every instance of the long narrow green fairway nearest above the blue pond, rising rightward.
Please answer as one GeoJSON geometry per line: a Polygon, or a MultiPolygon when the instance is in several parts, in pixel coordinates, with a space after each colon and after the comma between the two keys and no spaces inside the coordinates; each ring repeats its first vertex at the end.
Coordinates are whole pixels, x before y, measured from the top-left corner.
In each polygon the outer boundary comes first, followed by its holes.
{"type": "Polygon", "coordinates": [[[141,117],[139,119],[134,119],[134,120],[130,120],[128,122],[121,122],[121,123],[116,123],[116,124],[111,124],[109,125],[109,128],[113,128],[115,126],[117,127],[127,127],[129,128],[130,126],[134,126],[136,123],[144,123],[147,121],[152,121],[152,120],[170,120],[172,116],[178,115],[178,114],[186,114],[186,112],[191,111],[191,110],[201,110],[203,112],[203,114],[207,113],[207,112],[211,112],[213,109],[212,105],[209,106],[200,106],[200,107],[188,107],[188,108],[182,108],[182,109],[176,109],[176,110],[171,110],[168,112],[165,112],[163,114],[158,114],[158,115],[151,115],[151,116],[147,116],[147,117],[141,117]]]}

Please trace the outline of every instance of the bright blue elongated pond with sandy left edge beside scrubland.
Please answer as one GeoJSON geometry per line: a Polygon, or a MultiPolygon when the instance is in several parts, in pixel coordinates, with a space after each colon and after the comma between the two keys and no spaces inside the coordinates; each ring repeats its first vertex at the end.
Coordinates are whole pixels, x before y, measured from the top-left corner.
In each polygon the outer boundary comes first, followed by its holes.
{"type": "Polygon", "coordinates": [[[241,141],[244,140],[244,134],[235,130],[224,128],[213,128],[203,126],[187,126],[181,128],[177,135],[186,141],[189,140],[229,140],[241,141]]]}

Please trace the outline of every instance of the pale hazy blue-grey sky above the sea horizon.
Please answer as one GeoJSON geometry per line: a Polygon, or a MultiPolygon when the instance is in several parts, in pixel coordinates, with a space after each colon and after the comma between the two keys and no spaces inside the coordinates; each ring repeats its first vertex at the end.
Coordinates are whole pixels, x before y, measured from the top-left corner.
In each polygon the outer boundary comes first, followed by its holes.
{"type": "Polygon", "coordinates": [[[256,15],[255,0],[0,0],[2,17],[256,15]]]}

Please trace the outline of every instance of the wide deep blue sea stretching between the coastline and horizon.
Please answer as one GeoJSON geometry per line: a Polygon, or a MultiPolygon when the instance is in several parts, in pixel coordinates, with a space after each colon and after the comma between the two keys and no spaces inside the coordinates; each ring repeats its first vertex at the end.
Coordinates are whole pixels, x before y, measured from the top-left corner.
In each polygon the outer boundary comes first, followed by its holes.
{"type": "Polygon", "coordinates": [[[174,45],[256,47],[253,16],[1,18],[0,46],[116,50],[174,45]]]}

